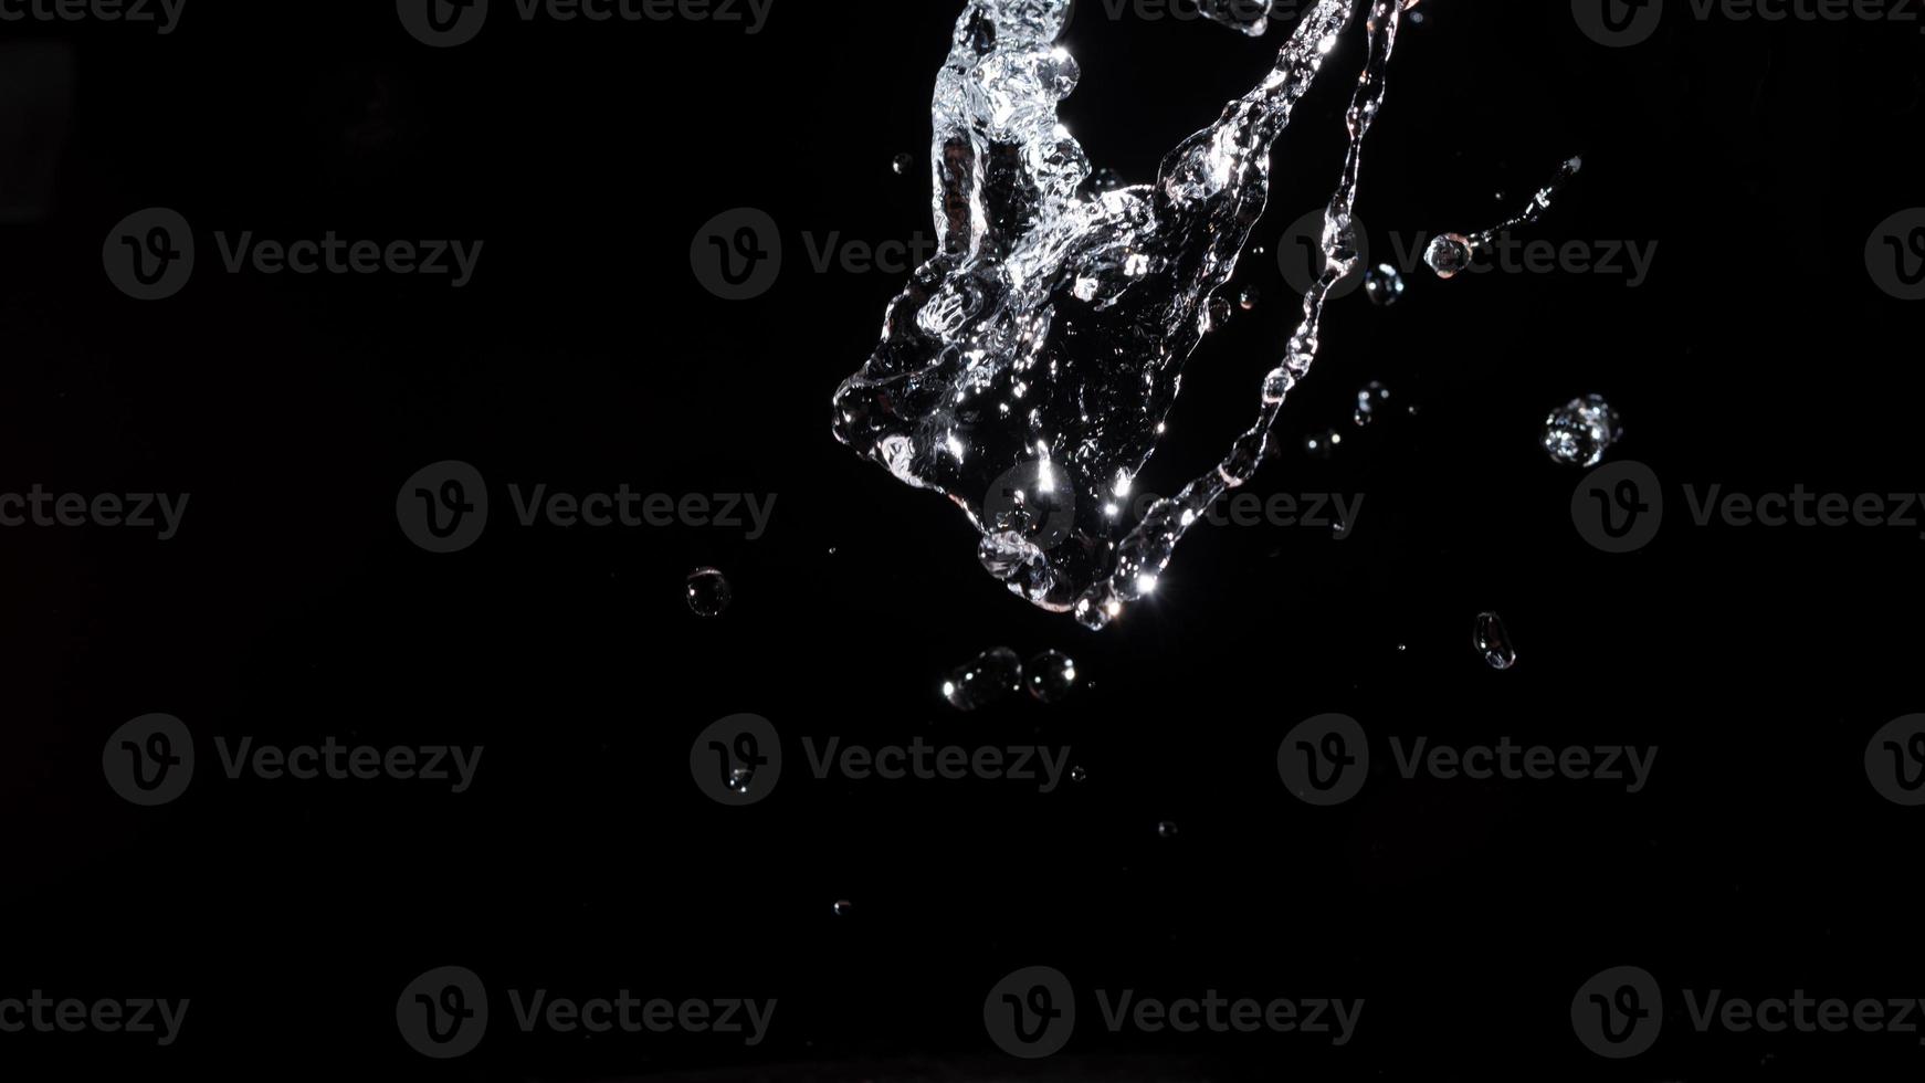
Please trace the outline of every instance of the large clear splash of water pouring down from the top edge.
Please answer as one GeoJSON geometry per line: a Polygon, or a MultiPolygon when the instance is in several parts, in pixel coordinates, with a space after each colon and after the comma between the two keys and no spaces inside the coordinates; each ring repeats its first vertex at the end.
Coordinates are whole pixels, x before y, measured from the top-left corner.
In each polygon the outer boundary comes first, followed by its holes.
{"type": "MultiPolygon", "coordinates": [[[[1057,121],[1078,81],[1055,46],[1070,0],[970,0],[934,100],[943,250],[889,304],[880,346],[837,389],[837,439],[955,500],[982,533],[984,567],[1036,606],[1099,629],[1151,592],[1211,502],[1255,475],[1284,398],[1317,358],[1324,300],[1359,258],[1363,139],[1413,4],[1317,2],[1263,83],[1170,152],[1155,183],[1101,190],[1057,121]],[[1209,302],[1263,215],[1270,148],[1359,13],[1367,56],[1303,319],[1222,462],[1124,529],[1122,506],[1209,302]]],[[[1232,15],[1244,6],[1213,12],[1261,33],[1232,15]]]]}

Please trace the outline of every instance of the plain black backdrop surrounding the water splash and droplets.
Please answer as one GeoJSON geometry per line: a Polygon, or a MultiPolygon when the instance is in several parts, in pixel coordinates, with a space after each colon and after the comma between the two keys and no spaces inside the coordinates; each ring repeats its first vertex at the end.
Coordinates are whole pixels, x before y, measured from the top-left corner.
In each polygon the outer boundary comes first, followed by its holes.
{"type": "MultiPolygon", "coordinates": [[[[44,214],[0,225],[0,491],[192,494],[167,542],[0,529],[0,996],[192,998],[166,1050],[0,1035],[10,1075],[1915,1075],[1915,1037],[1698,1035],[1675,996],[1925,981],[1919,816],[1861,768],[1871,731],[1919,710],[1917,529],[1700,529],[1679,491],[1919,489],[1917,312],[1863,260],[1879,221],[1925,202],[1915,23],[1667,17],[1605,50],[1561,2],[1426,0],[1367,146],[1378,256],[1394,231],[1494,225],[1580,152],[1530,237],[1657,240],[1650,281],[1411,275],[1396,308],[1338,302],[1251,489],[1361,492],[1353,535],[1199,529],[1153,602],[1088,633],[1003,592],[947,502],[830,437],[830,392],[901,275],[814,273],[803,233],[930,233],[928,96],[959,4],[776,0],[755,37],[497,8],[454,50],[379,2],[194,0],[171,37],[0,25],[0,63],[62,42],[73,71],[65,106],[0,104],[64,133],[37,152],[44,214]],[[139,304],[100,244],[148,206],[194,223],[200,269],[139,304]],[[737,206],[774,215],[787,258],[732,304],[689,242],[737,206]],[[462,290],[219,273],[212,233],[244,229],[485,248],[462,290]],[[1371,379],[1417,414],[1348,429],[1371,379]],[[1642,552],[1590,548],[1569,516],[1582,471],[1536,446],[1582,392],[1623,412],[1609,458],[1665,479],[1642,552]],[[1303,454],[1330,427],[1344,448],[1303,454]],[[437,460],[474,464],[495,500],[452,556],[395,521],[437,460]],[[522,529],[510,481],[778,502],[758,541],[522,529]],[[703,564],[735,587],[720,619],[681,600],[703,564]],[[1480,610],[1503,614],[1513,669],[1471,648],[1480,610]],[[1066,650],[1088,685],[949,710],[941,675],[997,644],[1066,650]],[[146,712],[200,743],[166,808],[100,775],[106,735],[146,712]],[[687,769],[733,712],[770,718],[789,756],[741,810],[687,769]],[[1371,785],[1334,810],[1276,775],[1282,735],[1321,712],[1376,743],[1371,785]],[[229,781],[212,735],[485,756],[460,796],[229,781]],[[1070,744],[1088,781],[814,781],[801,735],[1070,744]],[[1638,794],[1426,783],[1396,775],[1388,735],[1659,752],[1638,794]],[[497,1000],[481,1050],[435,1064],[393,1006],[447,964],[491,989],[780,1008],[745,1050],[520,1035],[497,1000]],[[1078,983],[1084,1023],[1022,1064],[986,1039],[982,998],[1034,964],[1078,983]],[[1569,1000],[1619,964],[1659,977],[1671,1020],[1611,1064],[1575,1041],[1569,1000]],[[1338,1050],[1107,1035],[1095,987],[1367,1008],[1338,1050]]],[[[1284,33],[1082,8],[1065,121],[1130,183],[1284,33]]],[[[1280,142],[1259,242],[1328,198],[1355,56],[1280,142]]],[[[10,154],[17,183],[37,160],[10,154]]],[[[1261,300],[1190,362],[1159,491],[1247,423],[1292,327],[1274,260],[1245,258],[1240,283],[1261,300]]]]}

